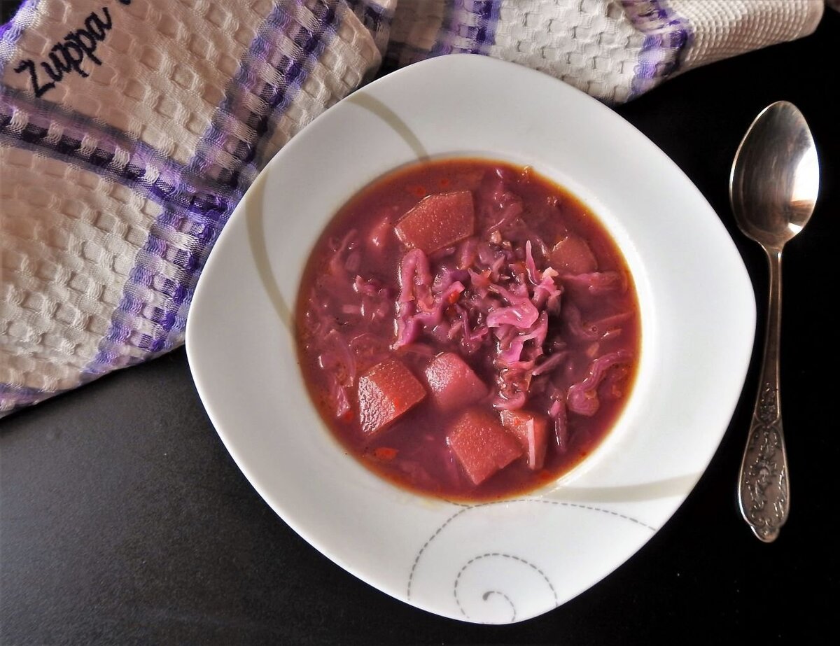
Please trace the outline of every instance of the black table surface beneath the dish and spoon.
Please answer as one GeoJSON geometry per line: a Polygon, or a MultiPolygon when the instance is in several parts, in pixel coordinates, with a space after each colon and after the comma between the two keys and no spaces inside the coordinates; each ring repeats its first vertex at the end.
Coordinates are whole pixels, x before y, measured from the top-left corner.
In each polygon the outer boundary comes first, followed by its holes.
{"type": "Polygon", "coordinates": [[[758,349],[720,449],[664,528],[580,596],[501,627],[396,601],[297,536],[224,449],[179,349],[0,422],[0,643],[832,641],[838,43],[840,14],[827,11],[806,39],[687,72],[617,108],[732,234],[753,277],[759,335],[767,268],[732,218],[732,156],[770,102],[795,102],[811,124],[822,186],[811,223],[785,248],[781,391],[793,504],[774,544],[753,537],[735,490],[758,349]]]}

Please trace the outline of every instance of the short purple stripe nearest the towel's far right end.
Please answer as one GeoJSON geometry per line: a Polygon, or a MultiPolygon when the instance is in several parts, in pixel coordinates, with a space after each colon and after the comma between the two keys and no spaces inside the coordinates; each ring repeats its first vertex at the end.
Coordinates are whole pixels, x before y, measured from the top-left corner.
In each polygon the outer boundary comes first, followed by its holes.
{"type": "Polygon", "coordinates": [[[633,26],[644,34],[634,70],[633,98],[679,69],[693,33],[689,22],[677,15],[666,0],[622,0],[622,7],[633,26]]]}

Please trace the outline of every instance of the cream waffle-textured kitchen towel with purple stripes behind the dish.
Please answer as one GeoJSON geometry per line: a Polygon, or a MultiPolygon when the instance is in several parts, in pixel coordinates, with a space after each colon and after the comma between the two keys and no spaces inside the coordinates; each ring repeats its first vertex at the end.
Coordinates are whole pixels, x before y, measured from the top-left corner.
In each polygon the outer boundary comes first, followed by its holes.
{"type": "Polygon", "coordinates": [[[0,26],[0,415],[182,344],[249,184],[377,73],[476,52],[617,103],[821,15],[819,0],[25,0],[0,26]]]}

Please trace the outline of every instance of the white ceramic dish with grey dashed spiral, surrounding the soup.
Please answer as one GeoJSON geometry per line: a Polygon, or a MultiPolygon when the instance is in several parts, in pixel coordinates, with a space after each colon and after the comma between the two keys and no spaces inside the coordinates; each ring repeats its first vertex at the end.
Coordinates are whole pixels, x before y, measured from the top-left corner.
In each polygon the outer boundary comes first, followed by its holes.
{"type": "Polygon", "coordinates": [[[732,240],[654,144],[549,76],[456,55],[371,83],[276,155],[210,255],[186,349],[225,446],[297,533],[397,599],[507,623],[592,586],[675,512],[727,428],[754,328],[732,240]],[[309,401],[291,328],[328,218],[398,165],[460,154],[533,165],[587,202],[643,310],[633,398],[601,448],[548,491],[472,506],[402,491],[345,455],[309,401]]]}

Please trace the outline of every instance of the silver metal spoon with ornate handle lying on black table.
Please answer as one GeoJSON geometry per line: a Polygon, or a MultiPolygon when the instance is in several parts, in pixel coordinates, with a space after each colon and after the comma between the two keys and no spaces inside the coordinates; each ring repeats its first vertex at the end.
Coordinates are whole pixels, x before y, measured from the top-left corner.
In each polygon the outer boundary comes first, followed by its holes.
{"type": "Polygon", "coordinates": [[[802,113],[786,101],[764,108],[735,153],[729,199],[738,226],[764,247],[769,260],[759,396],[738,476],[743,518],[765,543],[778,538],[790,508],[779,396],[782,248],[811,218],[819,186],[816,147],[802,113]]]}

